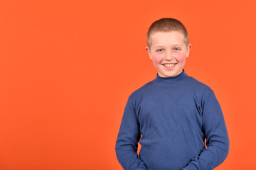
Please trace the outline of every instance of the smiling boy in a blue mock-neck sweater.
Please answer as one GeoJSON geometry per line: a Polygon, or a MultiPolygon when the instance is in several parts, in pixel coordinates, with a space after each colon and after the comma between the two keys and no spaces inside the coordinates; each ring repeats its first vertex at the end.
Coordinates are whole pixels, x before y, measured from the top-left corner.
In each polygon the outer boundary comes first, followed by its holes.
{"type": "Polygon", "coordinates": [[[116,143],[119,163],[125,170],[214,169],[228,156],[228,132],[213,91],[183,70],[191,49],[186,28],[162,18],[151,24],[147,43],[158,74],[129,96],[116,143]]]}

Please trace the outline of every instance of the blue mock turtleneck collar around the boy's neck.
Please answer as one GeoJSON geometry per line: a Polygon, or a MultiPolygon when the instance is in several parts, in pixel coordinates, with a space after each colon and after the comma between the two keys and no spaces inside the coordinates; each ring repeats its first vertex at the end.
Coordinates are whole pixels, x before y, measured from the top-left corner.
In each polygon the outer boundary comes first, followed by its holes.
{"type": "Polygon", "coordinates": [[[181,72],[181,74],[178,74],[176,77],[160,77],[159,74],[156,75],[156,79],[154,79],[154,82],[156,84],[162,84],[162,85],[176,85],[176,84],[182,84],[183,82],[190,79],[187,74],[185,74],[185,70],[181,72]]]}

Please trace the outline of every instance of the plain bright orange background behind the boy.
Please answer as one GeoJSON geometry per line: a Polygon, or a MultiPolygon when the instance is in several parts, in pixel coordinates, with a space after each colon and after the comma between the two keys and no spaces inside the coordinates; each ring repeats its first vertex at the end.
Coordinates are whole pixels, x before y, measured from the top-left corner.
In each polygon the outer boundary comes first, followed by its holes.
{"type": "Polygon", "coordinates": [[[216,169],[256,169],[256,3],[0,1],[0,169],[122,169],[114,145],[132,91],[156,77],[153,21],[177,18],[186,73],[223,108],[230,153],[216,169]]]}

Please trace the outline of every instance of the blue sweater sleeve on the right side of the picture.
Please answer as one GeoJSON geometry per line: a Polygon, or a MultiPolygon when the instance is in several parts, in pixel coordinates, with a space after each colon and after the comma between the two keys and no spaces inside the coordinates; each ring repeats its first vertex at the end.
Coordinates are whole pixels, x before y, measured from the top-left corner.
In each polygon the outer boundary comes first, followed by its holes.
{"type": "Polygon", "coordinates": [[[210,170],[221,164],[228,156],[229,139],[225,120],[220,104],[213,91],[203,103],[203,132],[206,136],[206,146],[201,154],[191,159],[183,169],[210,170]]]}

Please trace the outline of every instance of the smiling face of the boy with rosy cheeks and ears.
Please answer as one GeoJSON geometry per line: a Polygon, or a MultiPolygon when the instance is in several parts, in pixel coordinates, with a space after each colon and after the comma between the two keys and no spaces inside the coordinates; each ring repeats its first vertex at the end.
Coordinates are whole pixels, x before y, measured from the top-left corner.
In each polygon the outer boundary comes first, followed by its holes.
{"type": "Polygon", "coordinates": [[[160,77],[175,77],[182,72],[191,44],[186,45],[179,31],[152,33],[149,58],[160,77]]]}

